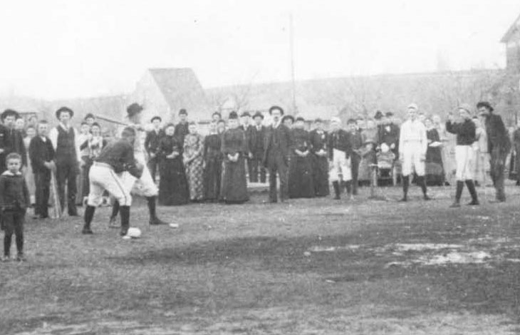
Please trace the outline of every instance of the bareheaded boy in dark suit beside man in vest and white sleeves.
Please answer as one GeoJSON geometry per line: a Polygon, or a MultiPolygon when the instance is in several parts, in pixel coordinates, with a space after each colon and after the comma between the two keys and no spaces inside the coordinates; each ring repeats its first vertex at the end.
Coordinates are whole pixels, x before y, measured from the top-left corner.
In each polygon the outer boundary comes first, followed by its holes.
{"type": "Polygon", "coordinates": [[[46,120],[41,120],[38,123],[38,135],[34,136],[29,144],[29,158],[31,158],[36,183],[34,215],[41,219],[48,217],[49,185],[51,184],[51,169],[54,165],[54,148],[47,134],[48,123],[46,120]]]}

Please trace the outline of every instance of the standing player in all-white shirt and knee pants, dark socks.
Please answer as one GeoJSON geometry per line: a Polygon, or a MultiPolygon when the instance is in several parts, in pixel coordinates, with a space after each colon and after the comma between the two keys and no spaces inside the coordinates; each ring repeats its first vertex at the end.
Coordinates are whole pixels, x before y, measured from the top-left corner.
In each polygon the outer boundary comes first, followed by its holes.
{"type": "Polygon", "coordinates": [[[402,163],[402,192],[400,201],[408,200],[408,185],[410,175],[415,171],[417,174],[417,185],[422,188],[425,200],[430,200],[426,190],[425,159],[428,141],[426,138],[425,125],[417,118],[417,105],[412,103],[408,106],[408,120],[401,125],[399,136],[399,158],[402,163]]]}

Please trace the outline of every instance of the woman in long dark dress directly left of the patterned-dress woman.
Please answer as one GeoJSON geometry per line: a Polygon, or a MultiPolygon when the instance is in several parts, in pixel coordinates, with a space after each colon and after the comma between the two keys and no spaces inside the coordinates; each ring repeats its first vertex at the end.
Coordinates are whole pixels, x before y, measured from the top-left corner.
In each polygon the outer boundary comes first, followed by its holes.
{"type": "Polygon", "coordinates": [[[170,123],[165,128],[165,136],[159,143],[159,204],[165,206],[185,205],[189,202],[188,182],[184,163],[182,163],[182,145],[174,136],[175,125],[170,123]]]}

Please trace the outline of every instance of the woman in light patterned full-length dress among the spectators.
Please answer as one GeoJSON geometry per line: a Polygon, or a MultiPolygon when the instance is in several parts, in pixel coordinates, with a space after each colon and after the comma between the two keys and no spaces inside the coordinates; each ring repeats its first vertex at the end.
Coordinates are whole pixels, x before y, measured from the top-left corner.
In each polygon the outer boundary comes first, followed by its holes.
{"type": "Polygon", "coordinates": [[[197,123],[188,125],[189,133],[184,137],[184,167],[189,185],[189,199],[204,200],[204,138],[198,133],[197,123]]]}

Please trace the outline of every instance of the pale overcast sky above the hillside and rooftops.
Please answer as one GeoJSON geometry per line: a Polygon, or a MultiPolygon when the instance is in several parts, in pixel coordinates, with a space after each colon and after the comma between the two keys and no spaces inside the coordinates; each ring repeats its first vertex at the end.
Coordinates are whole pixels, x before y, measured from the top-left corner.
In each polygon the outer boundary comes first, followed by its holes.
{"type": "Polygon", "coordinates": [[[1,1],[0,94],[129,93],[146,68],[202,86],[504,66],[518,0],[1,1]]]}

